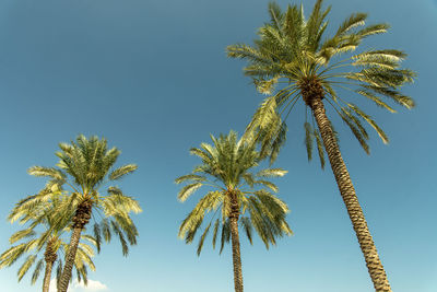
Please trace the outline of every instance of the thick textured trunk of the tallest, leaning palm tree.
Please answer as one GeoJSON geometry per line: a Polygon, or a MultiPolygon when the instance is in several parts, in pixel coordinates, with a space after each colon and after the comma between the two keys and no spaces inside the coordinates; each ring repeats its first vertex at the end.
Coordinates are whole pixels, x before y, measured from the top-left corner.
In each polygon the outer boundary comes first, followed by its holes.
{"type": "Polygon", "coordinates": [[[370,232],[367,227],[367,222],[364,218],[358,198],[356,197],[346,165],[344,164],[340,153],[331,124],[326,115],[323,103],[320,98],[312,98],[309,106],[319,127],[324,149],[328,152],[329,162],[335,176],[336,185],[339,186],[340,194],[346,206],[356,237],[358,238],[368,272],[374,282],[375,291],[391,292],[390,283],[379,259],[374,240],[371,238],[370,232]]]}

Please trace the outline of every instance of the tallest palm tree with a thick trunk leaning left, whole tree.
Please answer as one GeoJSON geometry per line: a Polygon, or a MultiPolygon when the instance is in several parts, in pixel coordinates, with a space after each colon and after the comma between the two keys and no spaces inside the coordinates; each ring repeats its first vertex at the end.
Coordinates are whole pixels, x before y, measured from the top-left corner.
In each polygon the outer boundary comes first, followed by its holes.
{"type": "Polygon", "coordinates": [[[333,36],[323,37],[328,25],[324,19],[330,8],[323,11],[321,5],[322,0],[318,0],[306,20],[302,7],[288,5],[283,12],[277,4],[270,3],[270,22],[259,28],[259,39],[253,42],[253,46],[236,44],[227,47],[229,57],[248,60],[245,73],[253,79],[258,91],[270,94],[276,84],[283,84],[257,109],[246,137],[255,138],[261,144],[262,154],[270,155],[274,161],[285,141],[286,118],[295,104],[303,101],[306,112],[310,110],[314,117],[312,126],[308,120],[304,124],[308,159],[311,159],[312,142],[316,140],[322,166],[324,151],[328,153],[375,289],[391,291],[324,105],[332,106],[369,153],[366,143],[369,137],[362,121],[370,125],[385,143],[388,143],[387,135],[357,105],[338,96],[335,89],[349,90],[349,95],[358,94],[394,113],[382,98],[412,108],[413,100],[399,89],[413,82],[415,74],[399,67],[406,56],[400,50],[352,52],[367,36],[386,33],[389,28],[387,24],[366,26],[365,13],[352,14],[333,36]],[[344,70],[346,67],[349,71],[344,70]],[[315,121],[318,129],[314,126],[315,121]]]}

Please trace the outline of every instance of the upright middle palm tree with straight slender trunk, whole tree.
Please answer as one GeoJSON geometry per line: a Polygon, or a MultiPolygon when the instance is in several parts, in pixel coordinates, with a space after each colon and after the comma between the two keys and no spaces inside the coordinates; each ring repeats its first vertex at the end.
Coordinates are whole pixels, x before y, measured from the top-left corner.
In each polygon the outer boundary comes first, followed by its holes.
{"type": "Polygon", "coordinates": [[[253,143],[248,144],[243,139],[237,141],[237,135],[234,131],[226,137],[221,135],[218,139],[211,136],[211,139],[213,145],[201,143],[200,148],[190,150],[191,154],[202,160],[202,164],[196,166],[190,174],[175,180],[176,184],[189,182],[178,194],[178,199],[182,202],[202,186],[212,188],[180,224],[179,237],[185,238],[187,244],[191,243],[205,214],[214,211],[199,240],[198,256],[215,220],[213,247],[215,248],[221,229],[220,253],[223,250],[224,243],[228,243],[231,237],[235,291],[243,292],[238,222],[246,232],[250,244],[252,244],[252,229],[255,227],[267,248],[270,243],[273,245],[276,243],[275,237],[292,234],[292,230],[285,222],[288,207],[270,191],[277,191],[277,187],[267,179],[283,176],[286,171],[265,168],[257,174],[251,173],[250,171],[258,166],[260,161],[259,153],[253,143]],[[256,189],[256,186],[268,187],[270,190],[256,189]],[[221,215],[215,219],[218,210],[221,215]]]}

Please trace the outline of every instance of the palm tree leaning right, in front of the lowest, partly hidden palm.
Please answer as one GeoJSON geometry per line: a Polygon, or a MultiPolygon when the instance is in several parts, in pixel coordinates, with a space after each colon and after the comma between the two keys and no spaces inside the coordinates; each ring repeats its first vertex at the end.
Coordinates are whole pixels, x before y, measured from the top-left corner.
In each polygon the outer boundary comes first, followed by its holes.
{"type": "MultiPolygon", "coordinates": [[[[67,192],[68,199],[64,201],[64,208],[74,210],[71,219],[71,240],[58,289],[58,292],[67,292],[79,241],[92,215],[98,214],[101,218],[97,219],[98,222],[96,220],[93,227],[97,252],[101,250],[102,235],[106,242],[109,242],[113,232],[118,235],[122,254],[127,256],[128,243],[137,244],[138,236],[137,227],[129,213],[131,211],[141,212],[141,208],[135,199],[126,196],[116,186],[107,187],[106,194],[99,192],[102,187],[115,183],[137,170],[134,164],[114,168],[120,154],[117,148],[108,150],[105,139],[99,140],[95,136],[87,139],[83,135],[80,135],[71,144],[60,143],[59,148],[61,151],[56,153],[60,159],[58,167],[33,166],[28,173],[48,177],[46,188],[61,189],[67,192]],[[103,211],[103,214],[99,211],[103,211]]],[[[44,200],[44,196],[39,199],[44,200]]]]}

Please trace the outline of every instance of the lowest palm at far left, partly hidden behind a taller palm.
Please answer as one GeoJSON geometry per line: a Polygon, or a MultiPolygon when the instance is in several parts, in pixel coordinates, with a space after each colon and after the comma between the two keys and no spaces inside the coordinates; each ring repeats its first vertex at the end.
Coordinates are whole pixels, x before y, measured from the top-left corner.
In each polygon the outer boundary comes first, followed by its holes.
{"type": "MultiPolygon", "coordinates": [[[[50,285],[51,270],[54,264],[58,261],[57,273],[58,280],[60,271],[62,269],[62,260],[59,259],[60,253],[67,253],[68,244],[62,240],[62,236],[69,232],[68,224],[71,222],[72,212],[71,210],[64,209],[62,215],[59,210],[62,208],[62,194],[51,192],[44,189],[42,192],[52,194],[52,200],[44,200],[35,203],[38,200],[38,195],[29,196],[21,200],[15,208],[11,211],[8,219],[11,223],[20,220],[20,223],[27,223],[29,225],[21,231],[15,232],[10,237],[10,243],[14,244],[21,240],[24,242],[12,246],[0,256],[0,268],[9,267],[14,264],[24,254],[32,253],[21,268],[19,269],[19,281],[26,275],[26,272],[36,262],[33,276],[32,284],[34,284],[40,271],[45,266],[45,275],[43,281],[43,292],[48,292],[50,285]],[[36,232],[35,229],[43,226],[40,232],[36,232]],[[44,250],[44,256],[38,260],[38,256],[44,250]]],[[[63,198],[64,199],[64,198],[63,198]]],[[[92,244],[96,244],[96,241],[91,235],[82,234],[81,236],[87,240],[92,244]]],[[[91,257],[94,256],[93,248],[85,243],[81,243],[78,247],[75,255],[74,268],[78,273],[78,279],[83,279],[84,283],[87,283],[87,269],[88,266],[93,271],[95,266],[91,257]]]]}

